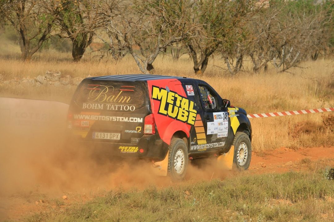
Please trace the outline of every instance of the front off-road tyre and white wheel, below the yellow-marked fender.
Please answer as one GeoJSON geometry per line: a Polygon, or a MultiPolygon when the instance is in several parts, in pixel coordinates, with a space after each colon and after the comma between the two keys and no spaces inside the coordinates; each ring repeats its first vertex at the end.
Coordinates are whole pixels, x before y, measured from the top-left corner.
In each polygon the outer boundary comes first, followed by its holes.
{"type": "Polygon", "coordinates": [[[233,140],[233,169],[246,170],[251,164],[252,144],[247,134],[236,132],[233,140]]]}

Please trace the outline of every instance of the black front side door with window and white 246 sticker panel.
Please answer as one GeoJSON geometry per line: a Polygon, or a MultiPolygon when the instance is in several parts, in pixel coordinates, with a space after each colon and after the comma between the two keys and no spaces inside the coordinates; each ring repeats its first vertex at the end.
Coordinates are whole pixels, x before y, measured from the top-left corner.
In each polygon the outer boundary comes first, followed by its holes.
{"type": "Polygon", "coordinates": [[[228,135],[227,109],[221,108],[220,96],[207,83],[198,82],[196,84],[196,90],[201,103],[201,119],[206,137],[206,143],[201,144],[200,149],[196,150],[222,149],[228,135]]]}

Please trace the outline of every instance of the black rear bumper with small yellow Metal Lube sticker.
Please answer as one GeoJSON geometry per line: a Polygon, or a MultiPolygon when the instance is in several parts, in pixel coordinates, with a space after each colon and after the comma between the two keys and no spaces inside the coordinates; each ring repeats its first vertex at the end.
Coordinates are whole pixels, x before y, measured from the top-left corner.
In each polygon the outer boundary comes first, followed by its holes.
{"type": "Polygon", "coordinates": [[[137,139],[139,139],[138,143],[113,143],[73,136],[69,137],[67,141],[76,143],[79,149],[89,149],[91,152],[100,155],[145,158],[155,161],[165,158],[168,152],[168,145],[161,139],[156,139],[156,135],[144,135],[137,139]]]}

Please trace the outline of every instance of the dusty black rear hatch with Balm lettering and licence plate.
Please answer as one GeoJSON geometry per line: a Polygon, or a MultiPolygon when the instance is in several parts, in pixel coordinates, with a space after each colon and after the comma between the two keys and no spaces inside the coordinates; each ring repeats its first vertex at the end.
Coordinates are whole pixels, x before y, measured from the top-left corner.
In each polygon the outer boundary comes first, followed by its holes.
{"type": "Polygon", "coordinates": [[[85,79],[69,109],[69,128],[80,140],[136,144],[149,114],[144,82],[85,79]]]}

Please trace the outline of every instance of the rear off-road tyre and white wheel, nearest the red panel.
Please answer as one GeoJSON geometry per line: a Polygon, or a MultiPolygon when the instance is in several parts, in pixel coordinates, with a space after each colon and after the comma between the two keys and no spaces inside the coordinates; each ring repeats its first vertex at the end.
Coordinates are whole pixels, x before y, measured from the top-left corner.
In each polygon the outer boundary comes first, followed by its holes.
{"type": "Polygon", "coordinates": [[[168,153],[168,176],[173,180],[183,179],[188,168],[188,161],[188,148],[184,140],[172,138],[168,153]]]}

